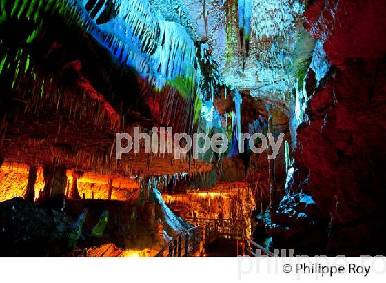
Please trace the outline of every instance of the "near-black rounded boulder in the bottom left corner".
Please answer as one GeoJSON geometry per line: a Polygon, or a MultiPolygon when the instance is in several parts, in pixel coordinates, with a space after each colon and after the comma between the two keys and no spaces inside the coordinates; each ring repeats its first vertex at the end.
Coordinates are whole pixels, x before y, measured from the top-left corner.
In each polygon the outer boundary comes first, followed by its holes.
{"type": "Polygon", "coordinates": [[[68,251],[72,219],[21,197],[0,203],[0,255],[55,256],[68,251]]]}

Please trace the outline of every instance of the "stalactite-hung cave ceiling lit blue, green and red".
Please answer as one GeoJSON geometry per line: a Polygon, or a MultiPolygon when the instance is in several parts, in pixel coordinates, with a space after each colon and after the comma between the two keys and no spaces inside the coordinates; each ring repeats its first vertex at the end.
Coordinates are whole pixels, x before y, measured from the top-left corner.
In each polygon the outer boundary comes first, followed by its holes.
{"type": "Polygon", "coordinates": [[[253,114],[246,124],[267,121],[272,107],[290,117],[296,70],[315,46],[296,0],[6,5],[2,42],[22,43],[14,53],[2,50],[3,80],[10,85],[2,99],[12,106],[2,127],[8,162],[60,160],[68,168],[131,177],[211,170],[200,160],[192,166],[145,154],[118,164],[114,133],[136,125],[192,133],[207,117],[237,116],[242,103],[253,114]]]}

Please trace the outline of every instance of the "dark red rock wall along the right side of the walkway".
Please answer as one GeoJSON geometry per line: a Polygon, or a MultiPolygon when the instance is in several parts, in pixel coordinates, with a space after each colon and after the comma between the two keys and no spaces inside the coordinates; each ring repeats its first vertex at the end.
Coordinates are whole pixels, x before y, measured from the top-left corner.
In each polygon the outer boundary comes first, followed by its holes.
{"type": "Polygon", "coordinates": [[[272,219],[274,247],[385,254],[385,12],[383,1],[365,0],[314,1],[305,11],[331,68],[307,88],[289,195],[272,219]],[[298,202],[304,196],[312,202],[298,202]]]}

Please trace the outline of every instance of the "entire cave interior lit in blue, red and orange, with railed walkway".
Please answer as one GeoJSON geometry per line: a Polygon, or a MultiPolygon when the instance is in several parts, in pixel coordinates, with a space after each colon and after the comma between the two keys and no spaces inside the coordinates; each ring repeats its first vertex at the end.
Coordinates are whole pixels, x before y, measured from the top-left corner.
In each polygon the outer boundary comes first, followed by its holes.
{"type": "Polygon", "coordinates": [[[0,7],[0,255],[386,254],[385,1],[0,7]],[[161,128],[227,149],[116,151],[161,128]]]}

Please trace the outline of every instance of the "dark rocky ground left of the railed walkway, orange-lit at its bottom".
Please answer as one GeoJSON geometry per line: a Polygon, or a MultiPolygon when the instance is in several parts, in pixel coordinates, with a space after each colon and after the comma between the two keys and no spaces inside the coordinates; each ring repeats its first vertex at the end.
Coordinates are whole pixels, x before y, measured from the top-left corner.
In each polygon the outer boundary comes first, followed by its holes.
{"type": "MultiPolygon", "coordinates": [[[[162,200],[162,199],[161,199],[162,200]]],[[[1,256],[150,256],[165,244],[155,219],[168,235],[190,228],[163,202],[51,200],[21,197],[0,202],[1,256]],[[136,251],[134,253],[134,251],[136,251]],[[149,252],[151,251],[151,253],[149,252]],[[137,255],[138,254],[138,255],[137,255]]]]}

